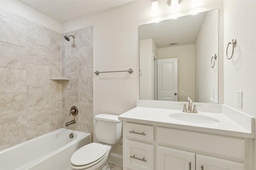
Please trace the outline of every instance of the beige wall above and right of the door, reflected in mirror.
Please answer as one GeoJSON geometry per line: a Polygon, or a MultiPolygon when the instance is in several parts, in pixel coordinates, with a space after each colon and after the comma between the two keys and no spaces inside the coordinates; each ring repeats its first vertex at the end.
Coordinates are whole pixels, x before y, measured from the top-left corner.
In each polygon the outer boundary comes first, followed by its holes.
{"type": "Polygon", "coordinates": [[[178,58],[178,101],[195,101],[195,45],[180,45],[158,49],[158,59],[178,58]],[[184,78],[184,84],[180,83],[184,78]]]}

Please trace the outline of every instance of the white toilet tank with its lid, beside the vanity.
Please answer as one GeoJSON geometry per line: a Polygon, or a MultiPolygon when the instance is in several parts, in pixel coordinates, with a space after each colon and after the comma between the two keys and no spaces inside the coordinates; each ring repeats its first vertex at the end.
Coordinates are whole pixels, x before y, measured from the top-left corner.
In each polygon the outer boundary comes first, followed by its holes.
{"type": "Polygon", "coordinates": [[[101,143],[114,145],[122,134],[122,121],[118,120],[118,115],[96,115],[94,127],[95,136],[101,143]]]}

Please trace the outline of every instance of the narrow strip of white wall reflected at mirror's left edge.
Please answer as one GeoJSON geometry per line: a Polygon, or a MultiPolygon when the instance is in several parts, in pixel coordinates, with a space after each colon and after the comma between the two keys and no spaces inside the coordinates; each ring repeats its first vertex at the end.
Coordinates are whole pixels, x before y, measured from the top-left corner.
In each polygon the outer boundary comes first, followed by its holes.
{"type": "Polygon", "coordinates": [[[153,43],[152,39],[140,40],[140,99],[153,99],[153,43]],[[143,63],[143,64],[142,64],[143,63]]]}

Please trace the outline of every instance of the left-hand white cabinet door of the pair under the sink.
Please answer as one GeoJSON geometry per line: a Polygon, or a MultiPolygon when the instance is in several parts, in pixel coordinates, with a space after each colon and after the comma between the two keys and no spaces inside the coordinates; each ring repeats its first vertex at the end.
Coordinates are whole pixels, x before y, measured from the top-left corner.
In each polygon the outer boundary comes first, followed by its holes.
{"type": "Polygon", "coordinates": [[[195,170],[196,154],[168,147],[157,147],[158,170],[195,170]]]}

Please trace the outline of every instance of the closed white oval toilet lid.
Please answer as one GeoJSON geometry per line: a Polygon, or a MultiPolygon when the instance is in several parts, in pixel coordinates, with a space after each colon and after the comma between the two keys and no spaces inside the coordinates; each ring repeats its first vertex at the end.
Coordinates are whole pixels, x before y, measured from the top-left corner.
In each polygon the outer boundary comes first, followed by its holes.
{"type": "Polygon", "coordinates": [[[91,164],[106,154],[108,147],[98,143],[90,143],[76,150],[71,157],[71,163],[76,166],[91,164]]]}

